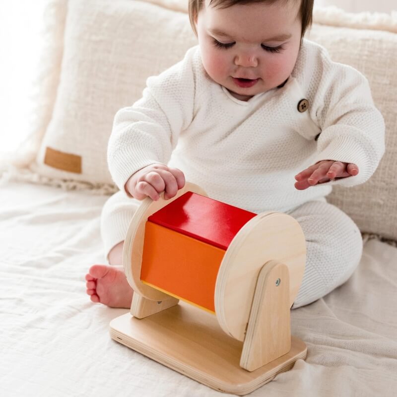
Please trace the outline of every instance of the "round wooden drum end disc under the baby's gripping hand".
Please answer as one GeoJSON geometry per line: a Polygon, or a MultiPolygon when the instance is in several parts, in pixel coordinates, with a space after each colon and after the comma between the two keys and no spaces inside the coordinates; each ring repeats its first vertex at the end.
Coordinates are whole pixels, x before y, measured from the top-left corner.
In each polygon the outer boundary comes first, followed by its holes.
{"type": "Polygon", "coordinates": [[[153,201],[150,197],[146,197],[142,200],[141,204],[132,216],[123,248],[123,265],[127,280],[132,286],[132,289],[144,298],[155,301],[175,299],[164,292],[143,284],[140,281],[140,269],[142,266],[143,242],[147,218],[154,212],[168,205],[170,202],[178,199],[186,192],[193,192],[201,196],[208,197],[204,190],[198,185],[186,183],[182,189],[178,190],[177,195],[172,199],[165,200],[164,192],[160,194],[160,199],[157,201],[153,201]]]}

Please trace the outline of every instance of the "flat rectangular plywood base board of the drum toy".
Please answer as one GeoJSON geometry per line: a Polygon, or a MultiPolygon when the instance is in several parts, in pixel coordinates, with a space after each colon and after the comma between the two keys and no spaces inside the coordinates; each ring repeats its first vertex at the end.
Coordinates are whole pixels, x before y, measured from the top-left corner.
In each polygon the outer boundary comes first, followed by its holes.
{"type": "Polygon", "coordinates": [[[139,353],[212,389],[244,396],[305,359],[306,344],[291,336],[291,350],[249,372],[240,367],[243,342],[226,335],[215,315],[178,305],[144,319],[127,313],[110,323],[111,336],[139,353]]]}

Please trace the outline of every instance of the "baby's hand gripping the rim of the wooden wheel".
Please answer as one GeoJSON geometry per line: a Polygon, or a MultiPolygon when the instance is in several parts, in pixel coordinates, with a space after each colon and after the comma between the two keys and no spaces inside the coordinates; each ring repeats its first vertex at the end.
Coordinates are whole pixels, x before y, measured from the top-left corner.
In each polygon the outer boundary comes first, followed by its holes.
{"type": "Polygon", "coordinates": [[[150,197],[158,200],[164,192],[164,199],[174,197],[179,189],[185,186],[185,175],[178,168],[170,168],[156,163],[136,171],[125,185],[130,195],[138,200],[150,197]]]}

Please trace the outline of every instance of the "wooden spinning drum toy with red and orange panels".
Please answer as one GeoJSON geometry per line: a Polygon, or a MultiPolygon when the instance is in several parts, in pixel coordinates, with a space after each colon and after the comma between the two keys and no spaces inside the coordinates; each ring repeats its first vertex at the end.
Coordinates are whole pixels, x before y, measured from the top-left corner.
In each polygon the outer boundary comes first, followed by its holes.
{"type": "Polygon", "coordinates": [[[291,336],[306,241],[281,212],[255,214],[187,183],[142,200],[123,251],[131,314],[116,341],[213,389],[245,395],[306,358],[291,336]]]}

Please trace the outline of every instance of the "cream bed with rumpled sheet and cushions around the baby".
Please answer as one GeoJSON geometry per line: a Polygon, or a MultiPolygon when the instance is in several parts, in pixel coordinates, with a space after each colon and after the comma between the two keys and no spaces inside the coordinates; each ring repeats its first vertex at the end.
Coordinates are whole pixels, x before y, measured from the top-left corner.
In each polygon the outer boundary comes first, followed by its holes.
{"type": "MultiPolygon", "coordinates": [[[[106,169],[110,115],[135,100],[146,74],[172,65],[195,44],[186,6],[160,0],[54,0],[49,7],[47,50],[53,52],[43,67],[52,73],[37,98],[41,107],[31,146],[16,153],[0,174],[0,393],[222,396],[112,340],[110,321],[128,309],[94,304],[85,294],[88,267],[106,263],[100,214],[116,191],[106,169]],[[150,20],[143,24],[147,15],[150,20]],[[93,33],[94,26],[101,28],[93,33]],[[152,36],[137,35],[142,29],[152,36]],[[109,45],[112,32],[124,41],[109,45]],[[147,51],[161,40],[168,46],[164,57],[162,50],[147,51]],[[126,45],[128,62],[115,63],[126,45]],[[169,51],[173,45],[178,51],[169,51]],[[142,48],[146,64],[134,66],[127,75],[142,48]],[[87,65],[90,59],[93,64],[87,65]],[[112,76],[98,59],[112,67],[112,76]],[[95,84],[87,70],[100,77],[95,84]],[[87,142],[93,142],[94,132],[101,136],[94,139],[98,150],[90,151],[87,142]],[[71,171],[68,163],[62,168],[65,157],[49,159],[48,147],[69,154],[69,161],[71,153],[80,157],[80,172],[71,171]]],[[[291,311],[291,333],[306,342],[307,358],[252,396],[396,395],[397,20],[378,15],[375,23],[371,18],[318,9],[310,33],[340,62],[370,76],[374,100],[385,117],[387,152],[376,174],[362,186],[335,187],[328,198],[360,227],[363,256],[345,284],[291,311]],[[354,56],[351,46],[357,49],[354,56]]]]}

